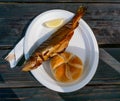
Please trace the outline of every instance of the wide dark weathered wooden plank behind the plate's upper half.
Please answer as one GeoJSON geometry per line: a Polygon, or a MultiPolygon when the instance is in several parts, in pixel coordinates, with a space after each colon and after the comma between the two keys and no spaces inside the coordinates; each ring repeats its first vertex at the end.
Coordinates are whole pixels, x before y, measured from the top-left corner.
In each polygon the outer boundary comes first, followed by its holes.
{"type": "MultiPolygon", "coordinates": [[[[25,35],[30,22],[40,13],[50,9],[75,12],[82,4],[84,3],[0,4],[0,46],[15,45],[25,35]]],[[[83,19],[92,28],[98,44],[120,44],[119,3],[89,3],[86,6],[88,10],[83,19]]]]}

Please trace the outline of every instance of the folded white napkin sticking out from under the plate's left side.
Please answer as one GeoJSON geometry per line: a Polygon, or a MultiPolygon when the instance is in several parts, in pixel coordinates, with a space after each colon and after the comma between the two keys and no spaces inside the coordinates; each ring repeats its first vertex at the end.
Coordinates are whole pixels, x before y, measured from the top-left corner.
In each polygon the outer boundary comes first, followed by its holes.
{"type": "Polygon", "coordinates": [[[24,37],[17,43],[17,45],[5,57],[5,60],[7,60],[10,63],[11,68],[14,68],[23,56],[23,43],[24,43],[24,37]]]}

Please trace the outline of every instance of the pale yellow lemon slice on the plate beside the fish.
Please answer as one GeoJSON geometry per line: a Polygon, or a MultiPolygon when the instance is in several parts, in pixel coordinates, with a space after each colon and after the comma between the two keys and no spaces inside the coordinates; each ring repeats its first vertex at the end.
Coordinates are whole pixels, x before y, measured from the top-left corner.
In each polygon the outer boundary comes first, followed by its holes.
{"type": "Polygon", "coordinates": [[[61,18],[61,19],[49,20],[49,21],[46,21],[44,24],[48,28],[56,28],[63,24],[63,19],[61,18]]]}

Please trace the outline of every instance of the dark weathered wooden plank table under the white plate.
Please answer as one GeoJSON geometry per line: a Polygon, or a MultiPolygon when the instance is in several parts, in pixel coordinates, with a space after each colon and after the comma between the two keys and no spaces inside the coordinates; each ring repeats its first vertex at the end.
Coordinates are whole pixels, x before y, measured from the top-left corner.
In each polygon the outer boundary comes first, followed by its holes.
{"type": "Polygon", "coordinates": [[[120,101],[120,0],[0,0],[0,101],[120,101]],[[30,22],[50,9],[75,12],[88,7],[83,19],[97,39],[100,59],[93,79],[72,93],[41,85],[21,66],[11,69],[4,57],[25,35],[30,22]]]}

